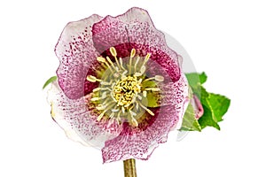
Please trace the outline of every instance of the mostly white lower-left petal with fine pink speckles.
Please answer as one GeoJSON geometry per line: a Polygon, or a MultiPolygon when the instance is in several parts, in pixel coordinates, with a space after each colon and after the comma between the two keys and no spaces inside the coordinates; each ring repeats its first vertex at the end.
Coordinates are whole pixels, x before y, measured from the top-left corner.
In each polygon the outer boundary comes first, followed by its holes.
{"type": "Polygon", "coordinates": [[[87,100],[87,96],[68,98],[60,89],[58,81],[52,82],[48,92],[51,116],[65,130],[66,135],[76,142],[100,149],[106,140],[120,135],[122,127],[116,123],[98,122],[97,115],[90,112],[87,100]]]}

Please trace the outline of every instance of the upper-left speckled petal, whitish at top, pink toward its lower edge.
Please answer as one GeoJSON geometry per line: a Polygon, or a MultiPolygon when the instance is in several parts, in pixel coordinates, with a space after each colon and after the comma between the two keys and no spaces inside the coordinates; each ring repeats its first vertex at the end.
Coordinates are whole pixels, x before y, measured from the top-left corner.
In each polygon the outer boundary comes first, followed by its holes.
{"type": "Polygon", "coordinates": [[[86,81],[86,76],[98,66],[98,52],[91,40],[91,27],[102,19],[92,15],[87,19],[69,22],[64,28],[55,52],[60,65],[57,71],[59,86],[66,96],[75,99],[90,93],[97,84],[86,81]]]}

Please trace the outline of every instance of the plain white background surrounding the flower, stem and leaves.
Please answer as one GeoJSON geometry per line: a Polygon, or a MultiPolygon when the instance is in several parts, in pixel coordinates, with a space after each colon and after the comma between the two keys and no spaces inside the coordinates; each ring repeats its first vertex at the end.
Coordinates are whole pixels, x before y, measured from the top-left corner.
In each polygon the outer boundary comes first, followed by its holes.
{"type": "Polygon", "coordinates": [[[68,21],[93,13],[146,9],[155,26],[182,43],[206,88],[231,98],[222,130],[176,133],[137,161],[138,176],[265,176],[266,5],[263,1],[2,1],[0,3],[0,176],[116,176],[99,150],[66,138],[42,90],[59,65],[53,50],[68,21]],[[8,3],[6,3],[8,2],[8,3]]]}

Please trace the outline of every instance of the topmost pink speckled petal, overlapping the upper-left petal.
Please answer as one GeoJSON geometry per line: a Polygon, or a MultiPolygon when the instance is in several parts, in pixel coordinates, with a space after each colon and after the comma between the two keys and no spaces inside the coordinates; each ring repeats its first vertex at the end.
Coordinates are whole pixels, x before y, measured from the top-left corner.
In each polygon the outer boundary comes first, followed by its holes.
{"type": "Polygon", "coordinates": [[[129,56],[132,48],[137,54],[145,56],[151,53],[156,61],[168,73],[172,81],[180,77],[180,65],[175,51],[170,50],[165,36],[153,26],[148,12],[140,8],[129,9],[117,16],[107,16],[92,27],[93,42],[99,53],[115,46],[119,57],[129,56]]]}

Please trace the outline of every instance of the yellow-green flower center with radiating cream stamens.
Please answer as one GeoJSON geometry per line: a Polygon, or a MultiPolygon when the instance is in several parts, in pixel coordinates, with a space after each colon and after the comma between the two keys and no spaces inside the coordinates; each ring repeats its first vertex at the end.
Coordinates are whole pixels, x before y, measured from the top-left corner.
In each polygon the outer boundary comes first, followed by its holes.
{"type": "Polygon", "coordinates": [[[148,112],[152,116],[154,113],[147,107],[147,94],[149,92],[159,92],[157,84],[152,87],[147,84],[164,81],[160,75],[147,78],[145,75],[146,63],[151,57],[148,53],[145,58],[135,56],[136,50],[132,49],[129,58],[117,58],[116,50],[111,47],[110,52],[115,60],[111,58],[98,57],[98,62],[105,65],[105,73],[98,79],[95,76],[88,75],[87,80],[91,82],[98,81],[99,87],[93,89],[93,95],[90,101],[96,104],[96,109],[101,119],[127,121],[132,126],[138,126],[138,119],[148,112]],[[148,87],[147,87],[148,86],[148,87]]]}

